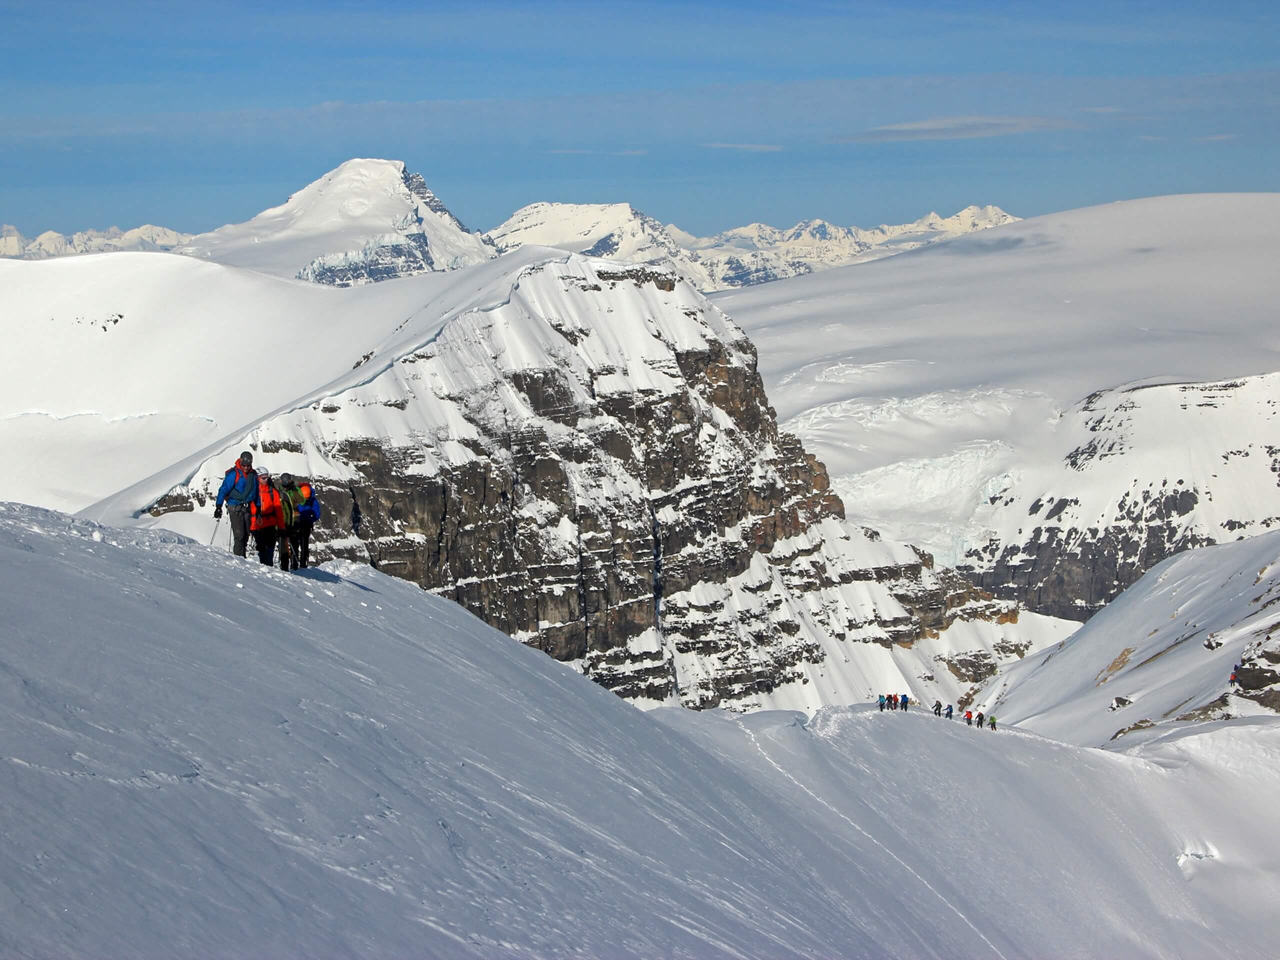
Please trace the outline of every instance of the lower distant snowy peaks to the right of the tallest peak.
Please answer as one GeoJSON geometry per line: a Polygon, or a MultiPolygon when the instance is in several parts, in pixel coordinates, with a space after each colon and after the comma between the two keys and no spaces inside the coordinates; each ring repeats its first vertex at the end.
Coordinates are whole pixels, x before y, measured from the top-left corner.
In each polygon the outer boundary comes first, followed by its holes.
{"type": "Polygon", "coordinates": [[[870,230],[804,220],[791,229],[751,224],[714,237],[663,227],[630,204],[532,204],[489,230],[499,250],[522,243],[639,262],[667,261],[700,291],[749,287],[900,253],[938,239],[1014,223],[996,206],[870,230]]]}

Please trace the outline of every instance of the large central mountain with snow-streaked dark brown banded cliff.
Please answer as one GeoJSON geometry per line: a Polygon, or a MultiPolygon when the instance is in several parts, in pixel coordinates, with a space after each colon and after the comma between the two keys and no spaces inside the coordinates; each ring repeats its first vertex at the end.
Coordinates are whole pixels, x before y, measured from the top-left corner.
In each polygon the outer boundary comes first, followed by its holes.
{"type": "MultiPolygon", "coordinates": [[[[845,520],[778,431],[751,344],[673,273],[526,268],[243,442],[315,479],[320,557],[421,584],[637,701],[804,705],[908,680],[950,695],[970,681],[934,662],[1030,645],[1011,604],[845,520]]],[[[224,467],[155,509],[207,509],[224,467]]]]}

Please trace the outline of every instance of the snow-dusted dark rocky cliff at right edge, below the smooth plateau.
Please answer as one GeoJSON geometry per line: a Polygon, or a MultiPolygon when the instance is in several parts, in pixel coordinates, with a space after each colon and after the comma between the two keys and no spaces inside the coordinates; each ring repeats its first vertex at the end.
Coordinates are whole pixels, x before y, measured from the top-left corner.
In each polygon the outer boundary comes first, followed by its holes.
{"type": "Polygon", "coordinates": [[[1280,524],[1280,376],[1103,390],[1065,415],[975,522],[961,567],[1029,609],[1087,620],[1166,557],[1280,524]]]}

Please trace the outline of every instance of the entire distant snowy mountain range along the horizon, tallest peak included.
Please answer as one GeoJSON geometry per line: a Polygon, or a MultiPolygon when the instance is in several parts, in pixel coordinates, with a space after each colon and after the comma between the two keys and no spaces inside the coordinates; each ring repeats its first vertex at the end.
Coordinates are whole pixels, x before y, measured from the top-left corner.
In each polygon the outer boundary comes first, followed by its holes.
{"type": "Polygon", "coordinates": [[[672,264],[700,291],[723,291],[876,260],[1018,218],[996,206],[954,216],[931,212],[910,224],[873,229],[805,220],[695,237],[663,227],[630,204],[531,204],[488,233],[467,229],[422,177],[398,160],[348,160],[252,220],[189,236],[161,227],[122,233],[87,230],[35,241],[13,227],[0,256],[42,259],[115,250],[172,250],[204,260],[333,287],[452,270],[525,244],[588,256],[672,264]]]}

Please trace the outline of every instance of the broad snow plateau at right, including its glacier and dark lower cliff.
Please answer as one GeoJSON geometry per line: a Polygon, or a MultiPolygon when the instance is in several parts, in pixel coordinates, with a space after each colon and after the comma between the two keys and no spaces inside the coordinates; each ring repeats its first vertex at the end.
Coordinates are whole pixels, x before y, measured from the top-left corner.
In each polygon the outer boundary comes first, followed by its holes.
{"type": "Polygon", "coordinates": [[[1280,517],[1280,195],[1157,197],[717,294],[850,513],[1084,620],[1280,517]]]}

